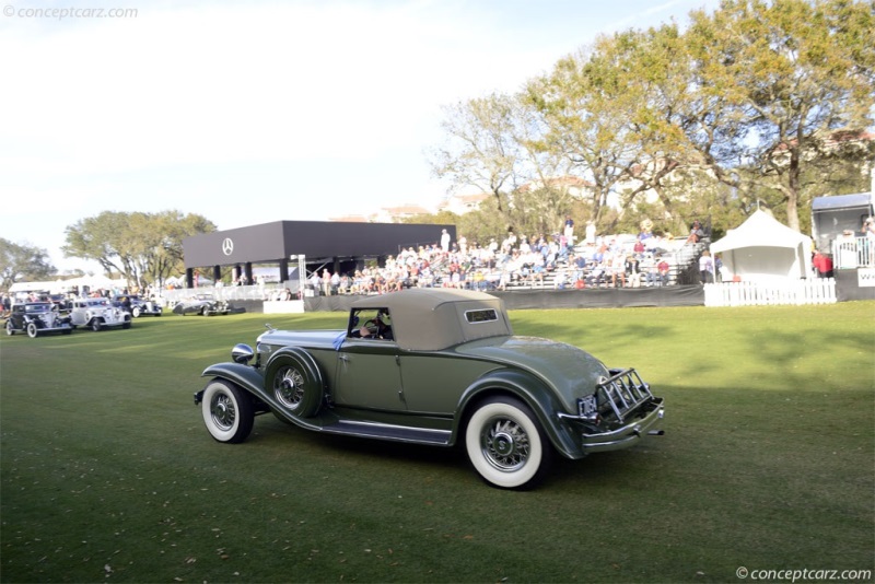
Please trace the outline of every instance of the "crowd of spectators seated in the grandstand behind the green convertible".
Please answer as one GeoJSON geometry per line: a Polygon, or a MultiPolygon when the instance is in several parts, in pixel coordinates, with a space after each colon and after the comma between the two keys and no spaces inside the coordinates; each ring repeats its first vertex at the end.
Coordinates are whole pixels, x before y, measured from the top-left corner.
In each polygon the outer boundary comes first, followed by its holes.
{"type": "MultiPolygon", "coordinates": [[[[674,283],[674,253],[684,240],[650,231],[638,235],[587,238],[573,245],[573,223],[550,236],[517,236],[509,232],[483,245],[460,236],[451,242],[408,247],[386,258],[383,266],[352,272],[315,271],[305,289],[318,295],[383,294],[404,288],[509,290],[513,288],[641,288],[674,283]]],[[[289,289],[275,300],[291,300],[289,289]]]]}

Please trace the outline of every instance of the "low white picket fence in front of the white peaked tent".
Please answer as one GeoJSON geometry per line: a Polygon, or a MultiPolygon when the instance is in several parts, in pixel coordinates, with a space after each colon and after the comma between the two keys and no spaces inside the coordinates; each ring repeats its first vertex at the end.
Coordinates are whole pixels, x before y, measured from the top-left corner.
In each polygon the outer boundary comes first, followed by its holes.
{"type": "Polygon", "coordinates": [[[835,302],[833,278],[704,284],[705,306],[833,304],[835,302]]]}

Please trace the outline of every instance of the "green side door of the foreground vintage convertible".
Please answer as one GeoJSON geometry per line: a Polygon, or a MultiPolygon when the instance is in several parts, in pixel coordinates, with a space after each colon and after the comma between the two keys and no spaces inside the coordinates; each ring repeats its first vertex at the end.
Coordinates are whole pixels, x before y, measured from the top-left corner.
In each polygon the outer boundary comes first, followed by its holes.
{"type": "Polygon", "coordinates": [[[337,359],[334,393],[337,406],[381,411],[407,409],[395,341],[348,337],[337,359]]]}

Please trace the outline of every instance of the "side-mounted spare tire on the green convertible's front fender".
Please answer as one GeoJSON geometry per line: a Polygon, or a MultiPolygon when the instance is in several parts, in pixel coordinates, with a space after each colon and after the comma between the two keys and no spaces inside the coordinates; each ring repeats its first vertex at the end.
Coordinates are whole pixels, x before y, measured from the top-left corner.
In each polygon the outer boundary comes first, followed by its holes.
{"type": "Polygon", "coordinates": [[[283,410],[299,418],[319,411],[325,384],[313,355],[303,350],[284,350],[270,358],[265,371],[265,390],[283,410]]]}

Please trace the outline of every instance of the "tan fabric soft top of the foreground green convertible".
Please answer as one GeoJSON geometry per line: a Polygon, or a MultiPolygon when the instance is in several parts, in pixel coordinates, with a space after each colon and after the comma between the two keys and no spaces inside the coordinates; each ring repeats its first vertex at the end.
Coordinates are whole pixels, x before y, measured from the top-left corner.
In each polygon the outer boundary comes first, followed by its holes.
{"type": "Polygon", "coordinates": [[[395,340],[407,350],[435,351],[513,335],[502,300],[483,292],[413,288],[352,303],[353,311],[361,308],[388,308],[395,340]]]}

